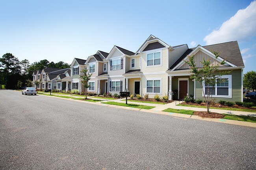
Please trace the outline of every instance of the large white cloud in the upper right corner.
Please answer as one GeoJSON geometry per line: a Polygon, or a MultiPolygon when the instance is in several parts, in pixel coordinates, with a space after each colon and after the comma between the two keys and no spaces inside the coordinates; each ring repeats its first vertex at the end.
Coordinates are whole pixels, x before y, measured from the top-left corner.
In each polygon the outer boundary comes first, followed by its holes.
{"type": "Polygon", "coordinates": [[[256,35],[256,1],[245,9],[240,9],[219,29],[213,30],[204,37],[206,44],[216,44],[234,40],[247,40],[256,35]]]}

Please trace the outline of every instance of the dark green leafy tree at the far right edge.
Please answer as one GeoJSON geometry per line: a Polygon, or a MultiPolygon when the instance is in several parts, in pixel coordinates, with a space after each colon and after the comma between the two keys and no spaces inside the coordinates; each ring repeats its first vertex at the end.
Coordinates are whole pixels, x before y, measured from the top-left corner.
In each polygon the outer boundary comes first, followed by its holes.
{"type": "Polygon", "coordinates": [[[248,71],[243,75],[243,87],[247,90],[256,90],[256,71],[248,71]]]}

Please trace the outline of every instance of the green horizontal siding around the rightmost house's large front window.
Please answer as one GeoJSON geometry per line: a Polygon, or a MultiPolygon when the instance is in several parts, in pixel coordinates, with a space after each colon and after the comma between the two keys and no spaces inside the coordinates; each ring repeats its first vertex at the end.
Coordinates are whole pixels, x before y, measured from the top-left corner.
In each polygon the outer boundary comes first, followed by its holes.
{"type": "MultiPolygon", "coordinates": [[[[228,75],[231,75],[232,79],[232,98],[221,98],[221,97],[213,97],[216,102],[220,100],[224,101],[231,101],[231,102],[236,102],[236,101],[242,101],[242,73],[241,69],[235,69],[232,70],[228,75]]],[[[196,99],[203,99],[204,97],[202,95],[202,88],[198,82],[196,82],[196,99]]]]}

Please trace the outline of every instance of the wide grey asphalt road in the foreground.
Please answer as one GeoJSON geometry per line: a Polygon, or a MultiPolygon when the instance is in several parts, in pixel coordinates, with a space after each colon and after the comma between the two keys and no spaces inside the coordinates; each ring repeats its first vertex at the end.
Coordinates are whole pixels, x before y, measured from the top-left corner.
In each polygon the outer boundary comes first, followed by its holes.
{"type": "Polygon", "coordinates": [[[256,169],[256,128],[0,90],[0,169],[256,169]]]}

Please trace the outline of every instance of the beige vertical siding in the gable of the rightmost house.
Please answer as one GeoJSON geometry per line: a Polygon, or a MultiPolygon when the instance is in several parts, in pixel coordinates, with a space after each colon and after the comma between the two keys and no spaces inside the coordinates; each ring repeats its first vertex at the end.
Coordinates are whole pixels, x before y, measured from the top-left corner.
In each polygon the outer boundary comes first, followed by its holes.
{"type": "MultiPolygon", "coordinates": [[[[210,60],[211,61],[211,66],[216,66],[217,64],[219,64],[220,62],[217,61],[216,59],[210,57],[209,55],[207,55],[206,53],[203,53],[202,51],[198,51],[195,56],[194,56],[194,61],[197,63],[197,67],[202,68],[202,63],[200,61],[203,61],[203,58],[205,60],[210,60]]],[[[178,69],[188,69],[188,65],[186,63],[184,63],[180,68],[178,69]]]]}

